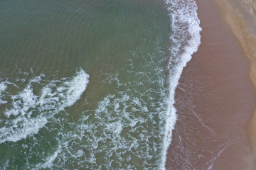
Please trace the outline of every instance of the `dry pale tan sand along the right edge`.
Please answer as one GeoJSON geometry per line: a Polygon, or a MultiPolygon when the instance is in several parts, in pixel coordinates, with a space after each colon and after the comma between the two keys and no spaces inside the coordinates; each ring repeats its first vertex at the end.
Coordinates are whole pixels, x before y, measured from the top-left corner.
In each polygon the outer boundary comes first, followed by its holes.
{"type": "MultiPolygon", "coordinates": [[[[213,0],[220,8],[224,23],[240,43],[242,50],[250,63],[248,70],[250,80],[256,89],[256,1],[213,0]],[[239,8],[240,7],[240,8],[239,8]]],[[[256,168],[256,111],[245,125],[248,140],[252,147],[256,168]]]]}

